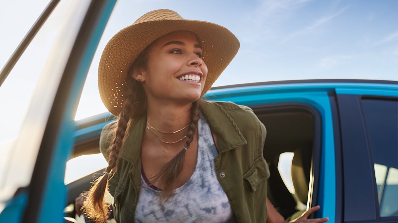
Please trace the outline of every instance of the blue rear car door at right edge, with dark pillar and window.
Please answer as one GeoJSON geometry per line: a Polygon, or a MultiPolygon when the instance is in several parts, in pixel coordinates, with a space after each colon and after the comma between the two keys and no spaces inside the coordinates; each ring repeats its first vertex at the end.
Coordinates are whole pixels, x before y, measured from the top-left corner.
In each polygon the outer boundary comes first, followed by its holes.
{"type": "Polygon", "coordinates": [[[398,221],[396,82],[338,88],[344,222],[398,221]]]}

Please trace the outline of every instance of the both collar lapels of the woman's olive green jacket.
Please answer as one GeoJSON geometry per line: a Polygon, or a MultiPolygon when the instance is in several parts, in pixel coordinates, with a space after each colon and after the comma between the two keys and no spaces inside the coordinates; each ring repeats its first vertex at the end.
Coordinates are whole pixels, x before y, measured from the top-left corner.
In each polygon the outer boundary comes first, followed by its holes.
{"type": "MultiPolygon", "coordinates": [[[[199,100],[201,112],[217,135],[219,154],[247,144],[232,117],[217,102],[199,100]]],[[[146,126],[146,114],[135,117],[119,156],[135,165],[140,160],[140,148],[146,126]]]]}

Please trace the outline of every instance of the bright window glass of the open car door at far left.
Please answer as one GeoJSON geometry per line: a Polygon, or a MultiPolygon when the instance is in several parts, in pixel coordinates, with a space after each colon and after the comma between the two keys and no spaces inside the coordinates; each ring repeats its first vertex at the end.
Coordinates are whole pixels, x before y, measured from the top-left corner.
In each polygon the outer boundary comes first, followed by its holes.
{"type": "Polygon", "coordinates": [[[33,92],[62,28],[61,18],[66,17],[69,8],[70,1],[63,1],[54,9],[0,87],[0,188],[4,186],[2,180],[8,170],[4,167],[13,156],[12,148],[20,134],[33,92]]]}

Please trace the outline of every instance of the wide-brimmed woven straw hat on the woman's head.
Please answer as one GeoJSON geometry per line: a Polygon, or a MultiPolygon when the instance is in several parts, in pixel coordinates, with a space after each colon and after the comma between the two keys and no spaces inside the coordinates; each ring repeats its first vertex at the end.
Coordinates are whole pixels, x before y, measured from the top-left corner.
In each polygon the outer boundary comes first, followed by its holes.
{"type": "Polygon", "coordinates": [[[140,52],[156,39],[180,30],[194,33],[202,45],[203,60],[208,68],[202,96],[238,52],[238,39],[225,27],[183,19],[172,10],[148,12],[114,35],[103,50],[98,67],[98,88],[109,112],[118,116],[122,111],[128,70],[140,52]]]}

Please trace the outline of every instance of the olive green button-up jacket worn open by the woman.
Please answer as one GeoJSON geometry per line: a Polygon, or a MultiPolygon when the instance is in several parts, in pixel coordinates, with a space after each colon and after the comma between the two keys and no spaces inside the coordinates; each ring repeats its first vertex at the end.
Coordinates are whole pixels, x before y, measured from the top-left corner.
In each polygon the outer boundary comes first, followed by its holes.
{"type": "MultiPolygon", "coordinates": [[[[239,223],[265,223],[269,169],[263,158],[264,125],[252,109],[232,102],[200,100],[200,108],[217,135],[215,171],[236,219],[239,223]]],[[[146,115],[136,119],[120,150],[117,171],[109,179],[109,191],[115,198],[114,216],[119,223],[133,222],[140,193],[140,147],[146,115]]],[[[109,123],[101,132],[100,150],[106,160],[108,133],[114,126],[115,122],[109,123]]]]}

